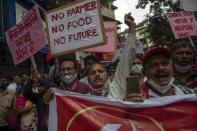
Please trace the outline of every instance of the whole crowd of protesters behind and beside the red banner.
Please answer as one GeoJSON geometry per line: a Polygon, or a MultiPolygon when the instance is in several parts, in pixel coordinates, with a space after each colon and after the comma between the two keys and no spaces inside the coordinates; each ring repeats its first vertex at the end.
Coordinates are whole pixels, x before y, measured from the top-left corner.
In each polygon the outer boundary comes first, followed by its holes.
{"type": "MultiPolygon", "coordinates": [[[[31,74],[0,76],[0,130],[46,131],[53,89],[115,98],[130,102],[193,94],[197,87],[195,49],[186,41],[171,49],[152,47],[136,54],[135,23],[125,15],[129,26],[127,45],[120,60],[104,66],[97,57],[87,56],[85,67],[75,59],[53,58],[47,74],[32,65],[31,74]],[[138,76],[140,92],[127,92],[126,78],[138,76]]],[[[39,63],[37,63],[39,64],[39,63]]]]}

